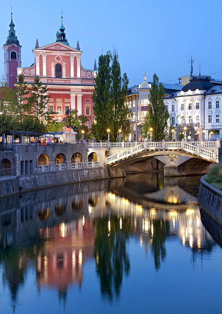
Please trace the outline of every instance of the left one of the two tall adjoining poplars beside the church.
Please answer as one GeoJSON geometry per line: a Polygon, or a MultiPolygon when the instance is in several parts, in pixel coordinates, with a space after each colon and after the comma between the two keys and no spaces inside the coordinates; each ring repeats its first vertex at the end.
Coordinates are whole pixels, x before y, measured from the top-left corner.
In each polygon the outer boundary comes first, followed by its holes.
{"type": "Polygon", "coordinates": [[[95,78],[95,89],[92,100],[95,122],[92,125],[92,133],[95,138],[105,140],[107,128],[113,125],[113,104],[111,100],[111,52],[100,55],[98,60],[98,74],[95,78]]]}

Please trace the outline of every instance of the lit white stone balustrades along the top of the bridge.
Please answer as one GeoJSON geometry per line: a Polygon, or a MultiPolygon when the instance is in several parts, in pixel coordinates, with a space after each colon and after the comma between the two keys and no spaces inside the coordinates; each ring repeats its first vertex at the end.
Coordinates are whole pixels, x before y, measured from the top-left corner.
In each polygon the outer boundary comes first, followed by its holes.
{"type": "MultiPolygon", "coordinates": [[[[112,163],[115,163],[116,161],[122,160],[127,157],[131,157],[135,154],[138,154],[144,150],[181,150],[187,153],[191,153],[193,155],[196,155],[198,157],[202,157],[204,159],[207,159],[209,161],[217,162],[218,163],[218,154],[215,153],[212,150],[207,150],[205,147],[208,147],[209,149],[212,147],[219,147],[218,143],[216,142],[186,142],[186,141],[177,141],[177,142],[143,142],[143,143],[137,143],[137,145],[129,147],[125,150],[122,150],[116,154],[113,154],[109,157],[105,158],[105,165],[109,165],[112,163]],[[200,147],[199,145],[203,144],[203,147],[200,147]],[[214,143],[214,144],[213,144],[214,143]],[[196,145],[194,145],[196,144],[196,145]]],[[[111,143],[113,144],[113,143],[111,143]]],[[[124,144],[124,143],[120,143],[124,144]]],[[[134,143],[135,144],[135,143],[134,143]]],[[[123,146],[121,146],[123,148],[123,146]]],[[[217,150],[217,149],[215,149],[217,150]]]]}

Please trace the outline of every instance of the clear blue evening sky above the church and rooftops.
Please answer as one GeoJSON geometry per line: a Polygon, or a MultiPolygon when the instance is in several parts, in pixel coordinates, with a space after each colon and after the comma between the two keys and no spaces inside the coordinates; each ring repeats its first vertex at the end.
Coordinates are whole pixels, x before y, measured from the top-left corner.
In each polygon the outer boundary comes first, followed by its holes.
{"type": "MultiPolygon", "coordinates": [[[[79,40],[83,67],[93,69],[102,47],[106,52],[114,46],[129,86],[141,83],[144,72],[148,72],[148,80],[156,72],[160,81],[177,83],[178,77],[190,72],[191,53],[197,75],[199,63],[202,75],[222,71],[222,0],[4,1],[2,46],[8,36],[11,4],[23,67],[34,62],[36,38],[40,46],[55,41],[63,10],[66,38],[74,48],[79,40]]],[[[3,73],[3,50],[0,56],[3,73]]],[[[222,73],[212,77],[222,79],[222,73]]]]}

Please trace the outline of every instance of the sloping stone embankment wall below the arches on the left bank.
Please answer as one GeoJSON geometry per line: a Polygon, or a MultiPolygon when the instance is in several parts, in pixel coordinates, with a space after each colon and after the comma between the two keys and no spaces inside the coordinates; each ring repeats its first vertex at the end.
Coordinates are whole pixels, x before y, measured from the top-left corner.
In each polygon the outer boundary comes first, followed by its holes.
{"type": "Polygon", "coordinates": [[[123,176],[126,176],[124,168],[106,167],[4,177],[0,178],[0,197],[60,184],[119,178],[123,176]]]}

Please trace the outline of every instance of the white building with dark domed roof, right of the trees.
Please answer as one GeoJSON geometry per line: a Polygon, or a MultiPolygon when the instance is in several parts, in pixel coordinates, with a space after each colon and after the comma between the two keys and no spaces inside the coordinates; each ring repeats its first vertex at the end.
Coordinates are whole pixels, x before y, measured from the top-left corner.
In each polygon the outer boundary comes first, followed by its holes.
{"type": "Polygon", "coordinates": [[[164,97],[164,103],[175,127],[176,138],[184,127],[187,127],[187,139],[190,140],[222,136],[221,82],[212,80],[210,76],[191,77],[180,91],[164,97]]]}

